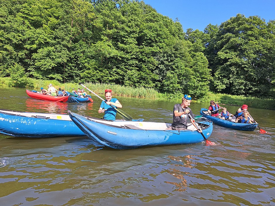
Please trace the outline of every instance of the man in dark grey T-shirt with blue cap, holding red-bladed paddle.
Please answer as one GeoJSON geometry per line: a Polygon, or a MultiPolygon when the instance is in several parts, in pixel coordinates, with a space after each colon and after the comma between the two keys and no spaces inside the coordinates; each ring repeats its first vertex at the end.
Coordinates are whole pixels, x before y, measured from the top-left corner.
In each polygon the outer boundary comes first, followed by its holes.
{"type": "MultiPolygon", "coordinates": [[[[165,130],[187,130],[187,120],[189,117],[189,114],[191,117],[194,118],[192,110],[188,107],[191,103],[191,96],[185,94],[182,98],[181,104],[175,104],[174,110],[173,110],[173,123],[170,127],[166,128],[165,130]]],[[[191,123],[196,127],[195,123],[191,120],[189,117],[191,123]]],[[[198,130],[199,132],[202,132],[202,130],[198,130]]]]}

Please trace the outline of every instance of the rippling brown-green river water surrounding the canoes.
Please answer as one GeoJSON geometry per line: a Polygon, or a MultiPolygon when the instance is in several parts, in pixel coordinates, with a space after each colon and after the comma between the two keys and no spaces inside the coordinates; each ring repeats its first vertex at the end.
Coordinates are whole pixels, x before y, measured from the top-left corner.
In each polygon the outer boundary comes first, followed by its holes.
{"type": "MultiPolygon", "coordinates": [[[[94,103],[56,103],[29,98],[22,88],[0,89],[2,109],[102,117],[101,100],[92,98],[94,103]]],[[[171,122],[178,103],[118,99],[132,117],[155,122],[171,122]]],[[[190,108],[199,115],[208,105],[190,108]]],[[[239,108],[226,107],[231,113],[239,108]]],[[[216,146],[114,150],[80,137],[0,135],[0,205],[275,205],[275,111],[248,110],[270,134],[214,125],[209,140],[216,146]]]]}

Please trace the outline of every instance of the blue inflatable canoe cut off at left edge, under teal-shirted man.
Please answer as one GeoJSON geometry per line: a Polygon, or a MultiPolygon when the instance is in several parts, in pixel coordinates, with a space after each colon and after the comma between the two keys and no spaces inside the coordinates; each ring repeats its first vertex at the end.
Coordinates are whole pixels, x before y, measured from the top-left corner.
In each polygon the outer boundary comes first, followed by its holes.
{"type": "MultiPolygon", "coordinates": [[[[98,122],[107,121],[86,117],[98,122]]],[[[143,119],[133,120],[142,121],[143,119]]],[[[111,123],[110,123],[111,124],[111,123]]],[[[69,115],[0,110],[0,134],[14,137],[47,138],[58,136],[86,136],[69,115]]]]}

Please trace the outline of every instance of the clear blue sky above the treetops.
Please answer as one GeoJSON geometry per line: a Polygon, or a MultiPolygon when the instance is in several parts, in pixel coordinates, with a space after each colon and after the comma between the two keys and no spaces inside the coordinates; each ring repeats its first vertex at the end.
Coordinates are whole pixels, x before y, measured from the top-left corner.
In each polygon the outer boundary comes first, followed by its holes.
{"type": "Polygon", "coordinates": [[[259,16],[275,20],[275,0],[143,0],[158,13],[172,20],[178,18],[183,30],[188,28],[203,31],[211,23],[220,25],[222,22],[236,16],[259,16]]]}

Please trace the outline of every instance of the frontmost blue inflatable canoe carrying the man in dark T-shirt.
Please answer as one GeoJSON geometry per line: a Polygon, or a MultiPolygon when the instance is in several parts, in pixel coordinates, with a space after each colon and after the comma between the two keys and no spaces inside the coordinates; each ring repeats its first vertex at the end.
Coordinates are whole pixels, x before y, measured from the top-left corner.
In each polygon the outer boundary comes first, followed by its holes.
{"type": "MultiPolygon", "coordinates": [[[[96,122],[68,111],[71,120],[93,141],[115,149],[133,149],[144,146],[193,144],[204,141],[193,124],[189,130],[165,130],[170,123],[159,122],[96,122]]],[[[213,130],[212,122],[198,122],[208,138],[213,130]]]]}

